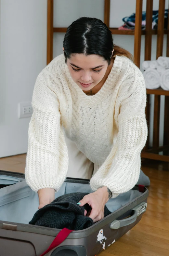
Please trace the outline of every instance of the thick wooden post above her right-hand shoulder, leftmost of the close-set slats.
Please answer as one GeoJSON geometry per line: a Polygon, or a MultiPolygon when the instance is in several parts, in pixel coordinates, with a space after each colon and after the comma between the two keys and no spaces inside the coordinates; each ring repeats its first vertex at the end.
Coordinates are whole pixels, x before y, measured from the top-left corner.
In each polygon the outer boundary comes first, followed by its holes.
{"type": "Polygon", "coordinates": [[[142,5],[142,0],[136,0],[134,58],[137,67],[140,67],[142,5]]]}

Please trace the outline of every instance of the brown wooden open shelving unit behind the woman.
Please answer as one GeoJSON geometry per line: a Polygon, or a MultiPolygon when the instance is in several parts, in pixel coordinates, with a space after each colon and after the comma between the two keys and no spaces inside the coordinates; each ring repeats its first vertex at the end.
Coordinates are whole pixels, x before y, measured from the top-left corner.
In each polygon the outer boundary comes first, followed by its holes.
{"type": "MultiPolygon", "coordinates": [[[[134,58],[135,63],[140,67],[140,53],[141,53],[141,35],[145,35],[145,61],[151,60],[151,42],[152,35],[157,35],[157,51],[156,59],[162,56],[163,50],[163,36],[167,35],[167,53],[169,57],[169,19],[168,28],[164,30],[164,9],[165,0],[159,1],[159,17],[158,17],[158,29],[152,30],[152,9],[153,0],[147,0],[146,3],[146,29],[141,30],[142,20],[142,4],[143,0],[136,0],[136,20],[135,30],[118,30],[118,28],[110,28],[110,0],[104,1],[104,23],[109,27],[112,34],[120,35],[134,35],[134,58]]],[[[67,28],[53,27],[53,0],[47,1],[47,64],[53,59],[53,33],[66,33],[67,28]]],[[[169,91],[162,90],[161,88],[156,90],[147,89],[147,106],[146,117],[149,128],[150,117],[150,95],[154,94],[154,124],[153,124],[153,146],[149,147],[149,134],[145,148],[142,151],[141,156],[143,158],[162,160],[169,162],[169,91]],[[160,127],[160,96],[165,96],[165,114],[164,114],[164,138],[163,146],[159,147],[159,127],[160,127]],[[159,155],[159,152],[163,152],[163,155],[159,155]]]]}

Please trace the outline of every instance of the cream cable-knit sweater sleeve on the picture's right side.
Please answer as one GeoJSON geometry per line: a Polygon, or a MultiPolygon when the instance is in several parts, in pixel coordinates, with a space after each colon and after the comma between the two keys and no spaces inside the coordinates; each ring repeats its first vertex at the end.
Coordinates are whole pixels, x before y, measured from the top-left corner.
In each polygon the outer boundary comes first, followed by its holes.
{"type": "Polygon", "coordinates": [[[138,71],[139,75],[130,81],[132,87],[128,91],[127,83],[120,91],[116,103],[118,114],[115,113],[114,117],[118,127],[117,140],[103,165],[90,180],[92,190],[107,186],[112,198],[132,189],[139,178],[140,154],[148,134],[145,117],[146,87],[140,73],[138,71]]]}

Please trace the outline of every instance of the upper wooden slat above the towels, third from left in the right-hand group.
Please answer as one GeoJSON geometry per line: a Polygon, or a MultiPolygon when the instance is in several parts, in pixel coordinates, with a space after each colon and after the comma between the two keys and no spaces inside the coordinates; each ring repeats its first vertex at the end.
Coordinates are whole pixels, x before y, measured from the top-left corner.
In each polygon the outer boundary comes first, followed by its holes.
{"type": "Polygon", "coordinates": [[[165,0],[159,1],[158,29],[157,29],[157,54],[156,59],[162,56],[163,37],[164,37],[164,11],[165,0]]]}

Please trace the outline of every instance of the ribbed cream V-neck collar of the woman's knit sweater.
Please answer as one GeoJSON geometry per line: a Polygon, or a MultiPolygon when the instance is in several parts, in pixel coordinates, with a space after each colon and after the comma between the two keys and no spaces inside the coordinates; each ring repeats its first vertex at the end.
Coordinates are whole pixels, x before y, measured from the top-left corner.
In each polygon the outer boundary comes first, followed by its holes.
{"type": "Polygon", "coordinates": [[[94,95],[86,95],[83,92],[83,90],[73,81],[73,79],[69,73],[68,66],[65,63],[65,73],[71,81],[71,86],[73,88],[75,88],[78,96],[82,99],[82,101],[85,101],[86,103],[90,103],[90,104],[99,103],[100,100],[103,100],[104,98],[107,98],[108,96],[110,96],[110,94],[114,90],[117,80],[120,76],[121,69],[122,69],[122,57],[116,56],[113,66],[111,68],[111,71],[110,71],[105,83],[101,87],[101,89],[94,95]]]}

